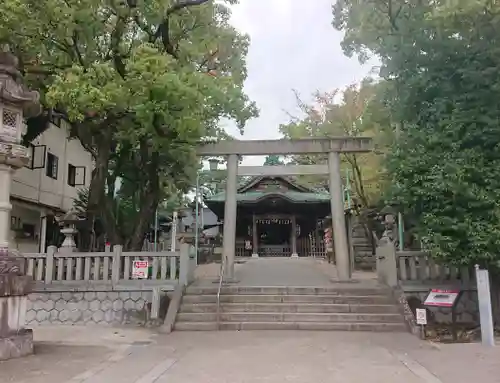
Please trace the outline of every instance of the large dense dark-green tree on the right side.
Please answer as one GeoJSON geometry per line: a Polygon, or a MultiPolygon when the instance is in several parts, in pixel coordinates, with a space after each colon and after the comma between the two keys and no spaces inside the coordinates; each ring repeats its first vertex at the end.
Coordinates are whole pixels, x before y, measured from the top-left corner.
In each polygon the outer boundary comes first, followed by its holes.
{"type": "Polygon", "coordinates": [[[500,4],[339,0],[347,54],[382,61],[399,142],[393,201],[432,254],[491,265],[500,244],[500,4]]]}

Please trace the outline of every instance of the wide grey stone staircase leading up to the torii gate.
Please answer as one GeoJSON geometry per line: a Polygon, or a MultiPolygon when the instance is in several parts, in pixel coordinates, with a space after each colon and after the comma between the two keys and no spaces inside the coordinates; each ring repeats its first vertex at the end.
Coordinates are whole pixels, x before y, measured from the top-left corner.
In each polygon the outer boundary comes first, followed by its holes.
{"type": "MultiPolygon", "coordinates": [[[[241,287],[221,291],[221,330],[406,331],[383,288],[241,287]]],[[[217,287],[188,287],[175,330],[217,329],[217,287]]]]}

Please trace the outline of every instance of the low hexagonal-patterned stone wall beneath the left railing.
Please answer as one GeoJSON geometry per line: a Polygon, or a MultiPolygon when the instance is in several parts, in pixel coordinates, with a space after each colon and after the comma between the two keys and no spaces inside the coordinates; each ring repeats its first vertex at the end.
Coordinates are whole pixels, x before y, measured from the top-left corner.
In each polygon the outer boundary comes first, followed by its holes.
{"type": "Polygon", "coordinates": [[[151,300],[151,290],[36,292],[28,296],[26,323],[145,325],[151,300]]]}

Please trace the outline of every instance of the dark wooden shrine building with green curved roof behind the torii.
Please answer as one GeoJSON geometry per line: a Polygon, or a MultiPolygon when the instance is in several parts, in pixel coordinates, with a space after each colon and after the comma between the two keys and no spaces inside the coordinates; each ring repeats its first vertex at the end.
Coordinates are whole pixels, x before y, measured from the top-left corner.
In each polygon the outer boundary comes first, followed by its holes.
{"type": "MultiPolygon", "coordinates": [[[[226,193],[204,202],[224,220],[226,193]]],[[[325,254],[323,220],[330,195],[290,177],[260,176],[237,189],[236,256],[297,257],[325,254]]]]}

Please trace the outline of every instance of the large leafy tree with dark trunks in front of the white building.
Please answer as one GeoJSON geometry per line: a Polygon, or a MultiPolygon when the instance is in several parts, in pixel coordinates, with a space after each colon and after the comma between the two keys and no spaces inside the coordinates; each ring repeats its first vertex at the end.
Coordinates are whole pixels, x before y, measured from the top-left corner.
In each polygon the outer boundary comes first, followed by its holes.
{"type": "Polygon", "coordinates": [[[0,5],[0,42],[20,58],[46,107],[28,122],[27,136],[42,132],[54,113],[71,122],[95,160],[88,218],[104,221],[111,242],[140,248],[158,203],[192,185],[196,143],[223,135],[220,118],[242,129],[256,115],[242,91],[248,38],[229,24],[234,3],[0,5]]]}

